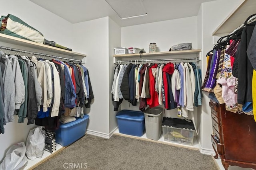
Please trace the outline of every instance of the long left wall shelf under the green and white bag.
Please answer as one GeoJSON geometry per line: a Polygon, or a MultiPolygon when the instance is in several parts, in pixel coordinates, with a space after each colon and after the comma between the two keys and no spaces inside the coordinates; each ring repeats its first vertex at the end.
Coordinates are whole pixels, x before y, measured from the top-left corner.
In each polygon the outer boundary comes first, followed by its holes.
{"type": "Polygon", "coordinates": [[[36,43],[33,41],[28,41],[26,39],[12,37],[10,35],[5,35],[2,33],[0,33],[0,41],[14,44],[14,45],[26,46],[26,47],[30,47],[38,50],[44,50],[51,53],[58,53],[58,54],[68,55],[73,57],[86,57],[86,55],[82,53],[76,53],[74,51],[68,51],[68,50],[57,48],[57,47],[52,47],[50,45],[44,45],[44,44],[36,43]]]}

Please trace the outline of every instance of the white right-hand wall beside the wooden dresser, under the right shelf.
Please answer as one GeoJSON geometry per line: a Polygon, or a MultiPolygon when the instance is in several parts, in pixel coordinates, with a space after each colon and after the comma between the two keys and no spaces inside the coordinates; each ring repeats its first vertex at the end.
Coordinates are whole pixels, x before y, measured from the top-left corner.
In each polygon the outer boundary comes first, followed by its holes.
{"type": "MultiPolygon", "coordinates": [[[[217,0],[212,2],[202,3],[201,9],[198,14],[198,20],[202,22],[202,35],[199,35],[202,41],[202,79],[206,73],[206,53],[210,51],[213,47],[213,36],[212,32],[218,27],[218,25],[238,6],[238,2],[241,0],[217,0]],[[220,5],[221,4],[221,5],[220,5]],[[214,8],[213,8],[214,7],[214,8]],[[218,8],[215,8],[218,7],[218,8]],[[200,12],[202,12],[200,14],[200,12]]],[[[242,23],[241,23],[242,24],[242,23]]],[[[200,25],[198,25],[200,26],[200,25]]],[[[199,29],[198,29],[199,30],[199,29]]],[[[211,112],[209,107],[209,98],[204,92],[204,98],[202,98],[202,114],[201,114],[201,147],[202,152],[207,152],[212,149],[210,134],[212,133],[212,120],[211,112]]]]}

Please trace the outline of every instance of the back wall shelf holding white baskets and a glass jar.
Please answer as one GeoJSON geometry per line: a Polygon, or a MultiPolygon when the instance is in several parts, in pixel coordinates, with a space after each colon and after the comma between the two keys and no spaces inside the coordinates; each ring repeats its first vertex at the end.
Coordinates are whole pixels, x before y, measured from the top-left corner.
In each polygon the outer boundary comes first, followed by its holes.
{"type": "MultiPolygon", "coordinates": [[[[191,55],[199,54],[201,49],[195,50],[184,50],[184,51],[165,51],[156,53],[142,53],[142,57],[154,57],[154,56],[170,56],[170,55],[191,55]]],[[[140,57],[139,53],[136,54],[124,54],[124,55],[114,55],[113,57],[140,57]]]]}

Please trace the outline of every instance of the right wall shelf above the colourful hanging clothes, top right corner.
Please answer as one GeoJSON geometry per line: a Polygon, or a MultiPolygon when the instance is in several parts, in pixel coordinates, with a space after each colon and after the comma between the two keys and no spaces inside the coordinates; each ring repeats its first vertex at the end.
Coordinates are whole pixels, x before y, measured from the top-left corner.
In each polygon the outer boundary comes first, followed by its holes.
{"type": "Polygon", "coordinates": [[[256,0],[243,0],[240,4],[222,21],[212,35],[231,33],[252,14],[256,13],[256,0]]]}

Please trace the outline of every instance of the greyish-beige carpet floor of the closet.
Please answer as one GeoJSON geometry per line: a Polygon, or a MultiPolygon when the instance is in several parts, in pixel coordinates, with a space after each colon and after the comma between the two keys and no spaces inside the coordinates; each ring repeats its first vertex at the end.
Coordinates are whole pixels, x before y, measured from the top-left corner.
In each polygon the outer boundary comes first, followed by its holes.
{"type": "Polygon", "coordinates": [[[198,150],[113,135],[85,135],[35,170],[217,170],[198,150]]]}

